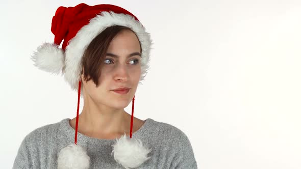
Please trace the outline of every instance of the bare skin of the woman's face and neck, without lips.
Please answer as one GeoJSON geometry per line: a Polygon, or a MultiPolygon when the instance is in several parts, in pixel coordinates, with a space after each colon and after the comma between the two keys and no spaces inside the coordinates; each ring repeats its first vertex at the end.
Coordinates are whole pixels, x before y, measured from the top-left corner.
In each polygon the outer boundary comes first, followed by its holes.
{"type": "MultiPolygon", "coordinates": [[[[126,133],[130,135],[131,115],[124,108],[132,101],[140,79],[141,57],[131,53],[140,53],[140,44],[136,35],[124,30],[111,41],[107,53],[118,55],[113,58],[106,56],[102,74],[96,88],[93,80],[86,82],[81,75],[84,106],[79,115],[78,132],[93,138],[115,139],[126,133]],[[139,60],[137,61],[135,60],[139,60]],[[126,95],[117,94],[113,89],[130,88],[126,95]]],[[[141,54],[141,53],[140,53],[141,54]]],[[[84,70],[83,70],[84,71],[84,70]]],[[[138,118],[133,119],[133,131],[136,132],[144,124],[138,118]]],[[[69,121],[75,129],[76,117],[69,121]]]]}

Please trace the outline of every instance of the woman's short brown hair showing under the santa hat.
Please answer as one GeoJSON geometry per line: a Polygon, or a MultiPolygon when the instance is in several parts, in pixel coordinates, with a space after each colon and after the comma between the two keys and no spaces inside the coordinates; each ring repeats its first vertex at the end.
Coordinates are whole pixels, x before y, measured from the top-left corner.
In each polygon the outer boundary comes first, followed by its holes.
{"type": "MultiPolygon", "coordinates": [[[[89,81],[92,79],[96,87],[98,87],[98,78],[101,76],[101,69],[104,64],[103,62],[105,61],[106,52],[109,48],[109,45],[112,39],[123,30],[132,31],[129,27],[120,25],[107,27],[101,34],[97,35],[87,46],[81,61],[82,68],[84,69],[85,81],[89,81]]],[[[135,33],[134,31],[132,32],[135,33]]],[[[141,44],[140,52],[142,52],[141,44]]],[[[82,73],[83,70],[81,74],[82,73]]]]}

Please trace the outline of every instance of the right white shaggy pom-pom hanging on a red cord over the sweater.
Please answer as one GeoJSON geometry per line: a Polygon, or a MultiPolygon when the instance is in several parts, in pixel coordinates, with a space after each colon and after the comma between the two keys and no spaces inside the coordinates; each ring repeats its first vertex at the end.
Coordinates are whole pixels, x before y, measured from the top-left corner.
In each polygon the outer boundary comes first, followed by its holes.
{"type": "Polygon", "coordinates": [[[150,158],[147,157],[147,154],[152,151],[152,149],[143,147],[139,139],[127,138],[125,133],[118,140],[116,139],[116,143],[112,147],[115,161],[127,169],[141,165],[150,158]]]}

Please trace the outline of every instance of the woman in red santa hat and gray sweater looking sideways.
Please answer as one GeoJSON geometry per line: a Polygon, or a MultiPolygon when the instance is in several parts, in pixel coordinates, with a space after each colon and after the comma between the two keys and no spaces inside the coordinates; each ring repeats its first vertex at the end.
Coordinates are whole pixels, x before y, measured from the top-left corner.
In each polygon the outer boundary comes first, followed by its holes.
{"type": "Polygon", "coordinates": [[[197,168],[181,130],[133,116],[152,44],[137,17],[113,5],[59,7],[51,30],[54,44],[39,46],[32,59],[77,90],[77,117],[29,133],[13,168],[197,168]]]}

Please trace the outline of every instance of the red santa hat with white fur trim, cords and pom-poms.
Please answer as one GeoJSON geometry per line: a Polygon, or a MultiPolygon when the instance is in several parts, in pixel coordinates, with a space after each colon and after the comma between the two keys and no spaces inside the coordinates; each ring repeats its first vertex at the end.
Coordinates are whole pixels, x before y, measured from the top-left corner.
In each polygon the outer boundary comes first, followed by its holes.
{"type": "MultiPolygon", "coordinates": [[[[141,44],[141,75],[144,79],[149,66],[149,51],[152,41],[145,28],[129,11],[118,6],[103,4],[88,6],[79,4],[75,7],[59,7],[52,19],[51,31],[55,35],[54,43],[44,43],[32,55],[35,66],[41,70],[64,75],[72,90],[78,91],[78,108],[74,144],[63,148],[58,155],[58,168],[89,168],[90,158],[86,149],[77,145],[79,121],[79,105],[81,97],[80,64],[83,53],[89,43],[107,27],[121,25],[129,27],[137,35],[141,44]],[[64,40],[64,41],[63,41],[64,40]],[[63,41],[62,48],[59,48],[63,41]]],[[[134,100],[132,101],[132,117],[130,138],[124,133],[112,145],[112,154],[116,162],[125,168],[135,168],[149,159],[152,151],[143,146],[141,140],[132,138],[134,100]]]]}

